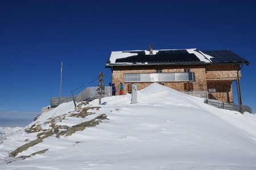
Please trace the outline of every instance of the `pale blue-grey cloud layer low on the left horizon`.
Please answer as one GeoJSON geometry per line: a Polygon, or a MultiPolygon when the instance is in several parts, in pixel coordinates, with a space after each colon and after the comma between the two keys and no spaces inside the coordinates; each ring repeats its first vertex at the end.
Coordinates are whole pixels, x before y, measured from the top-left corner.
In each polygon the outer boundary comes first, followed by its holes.
{"type": "Polygon", "coordinates": [[[24,127],[40,112],[0,111],[0,127],[24,127]]]}

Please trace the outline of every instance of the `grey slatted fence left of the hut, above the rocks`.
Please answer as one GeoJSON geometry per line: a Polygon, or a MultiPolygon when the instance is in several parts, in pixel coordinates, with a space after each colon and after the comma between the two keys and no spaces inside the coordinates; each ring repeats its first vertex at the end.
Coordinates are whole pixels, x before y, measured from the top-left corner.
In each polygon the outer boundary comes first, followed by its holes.
{"type": "MultiPolygon", "coordinates": [[[[85,90],[81,91],[78,95],[74,96],[76,102],[81,102],[84,100],[92,100],[98,98],[97,93],[98,87],[87,87],[85,90]]],[[[105,95],[103,97],[112,96],[112,87],[105,86],[105,95]]],[[[51,97],[51,107],[56,107],[62,103],[67,103],[72,101],[72,96],[61,96],[61,97],[51,97]]]]}

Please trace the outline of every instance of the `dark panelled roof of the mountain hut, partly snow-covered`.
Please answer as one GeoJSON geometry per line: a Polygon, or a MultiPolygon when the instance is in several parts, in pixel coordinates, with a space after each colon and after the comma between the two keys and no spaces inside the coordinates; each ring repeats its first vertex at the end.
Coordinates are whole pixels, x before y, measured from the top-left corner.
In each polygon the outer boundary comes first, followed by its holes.
{"type": "Polygon", "coordinates": [[[115,63],[110,62],[110,57],[106,62],[106,67],[121,65],[193,65],[210,63],[246,63],[249,62],[233,53],[230,50],[204,50],[195,49],[195,53],[189,53],[186,49],[182,50],[159,50],[155,54],[146,54],[145,51],[125,51],[120,52],[130,54],[129,57],[115,59],[115,63]],[[133,55],[134,53],[134,55],[133,55]],[[202,56],[202,55],[203,56],[202,56]],[[207,56],[207,55],[209,56],[207,56]],[[203,59],[202,59],[203,58],[203,59]]]}

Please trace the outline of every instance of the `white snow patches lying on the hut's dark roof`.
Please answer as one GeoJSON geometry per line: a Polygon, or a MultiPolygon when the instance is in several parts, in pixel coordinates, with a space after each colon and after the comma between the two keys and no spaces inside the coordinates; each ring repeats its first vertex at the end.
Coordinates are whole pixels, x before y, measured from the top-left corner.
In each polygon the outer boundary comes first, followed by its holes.
{"type": "MultiPolygon", "coordinates": [[[[151,55],[155,55],[159,51],[171,51],[171,50],[187,50],[187,52],[189,54],[195,54],[195,56],[197,58],[199,58],[200,61],[203,61],[203,62],[206,62],[206,63],[211,62],[210,58],[212,58],[212,56],[209,56],[209,55],[207,55],[207,54],[197,50],[196,48],[193,48],[193,49],[161,49],[161,50],[152,50],[153,53],[151,55]]],[[[110,61],[109,64],[114,64],[116,59],[126,58],[126,57],[131,57],[131,56],[138,56],[138,53],[136,53],[136,52],[144,52],[145,55],[150,55],[150,52],[148,50],[129,50],[129,51],[112,52],[110,54],[110,57],[109,57],[109,61],[110,61]]],[[[128,64],[128,63],[126,63],[126,64],[128,64]]]]}

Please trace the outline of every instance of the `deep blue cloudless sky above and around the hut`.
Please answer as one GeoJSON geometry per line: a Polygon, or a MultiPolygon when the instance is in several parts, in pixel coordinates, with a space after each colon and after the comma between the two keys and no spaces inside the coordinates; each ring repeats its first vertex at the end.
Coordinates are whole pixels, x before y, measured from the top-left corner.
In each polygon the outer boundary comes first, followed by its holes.
{"type": "MultiPolygon", "coordinates": [[[[40,112],[60,90],[96,86],[111,51],[230,49],[243,104],[255,106],[256,1],[0,0],[0,112],[40,112]]],[[[110,72],[105,76],[110,82],[110,72]]],[[[236,86],[234,97],[237,103],[236,86]]],[[[79,91],[78,91],[79,92],[79,91]]]]}

